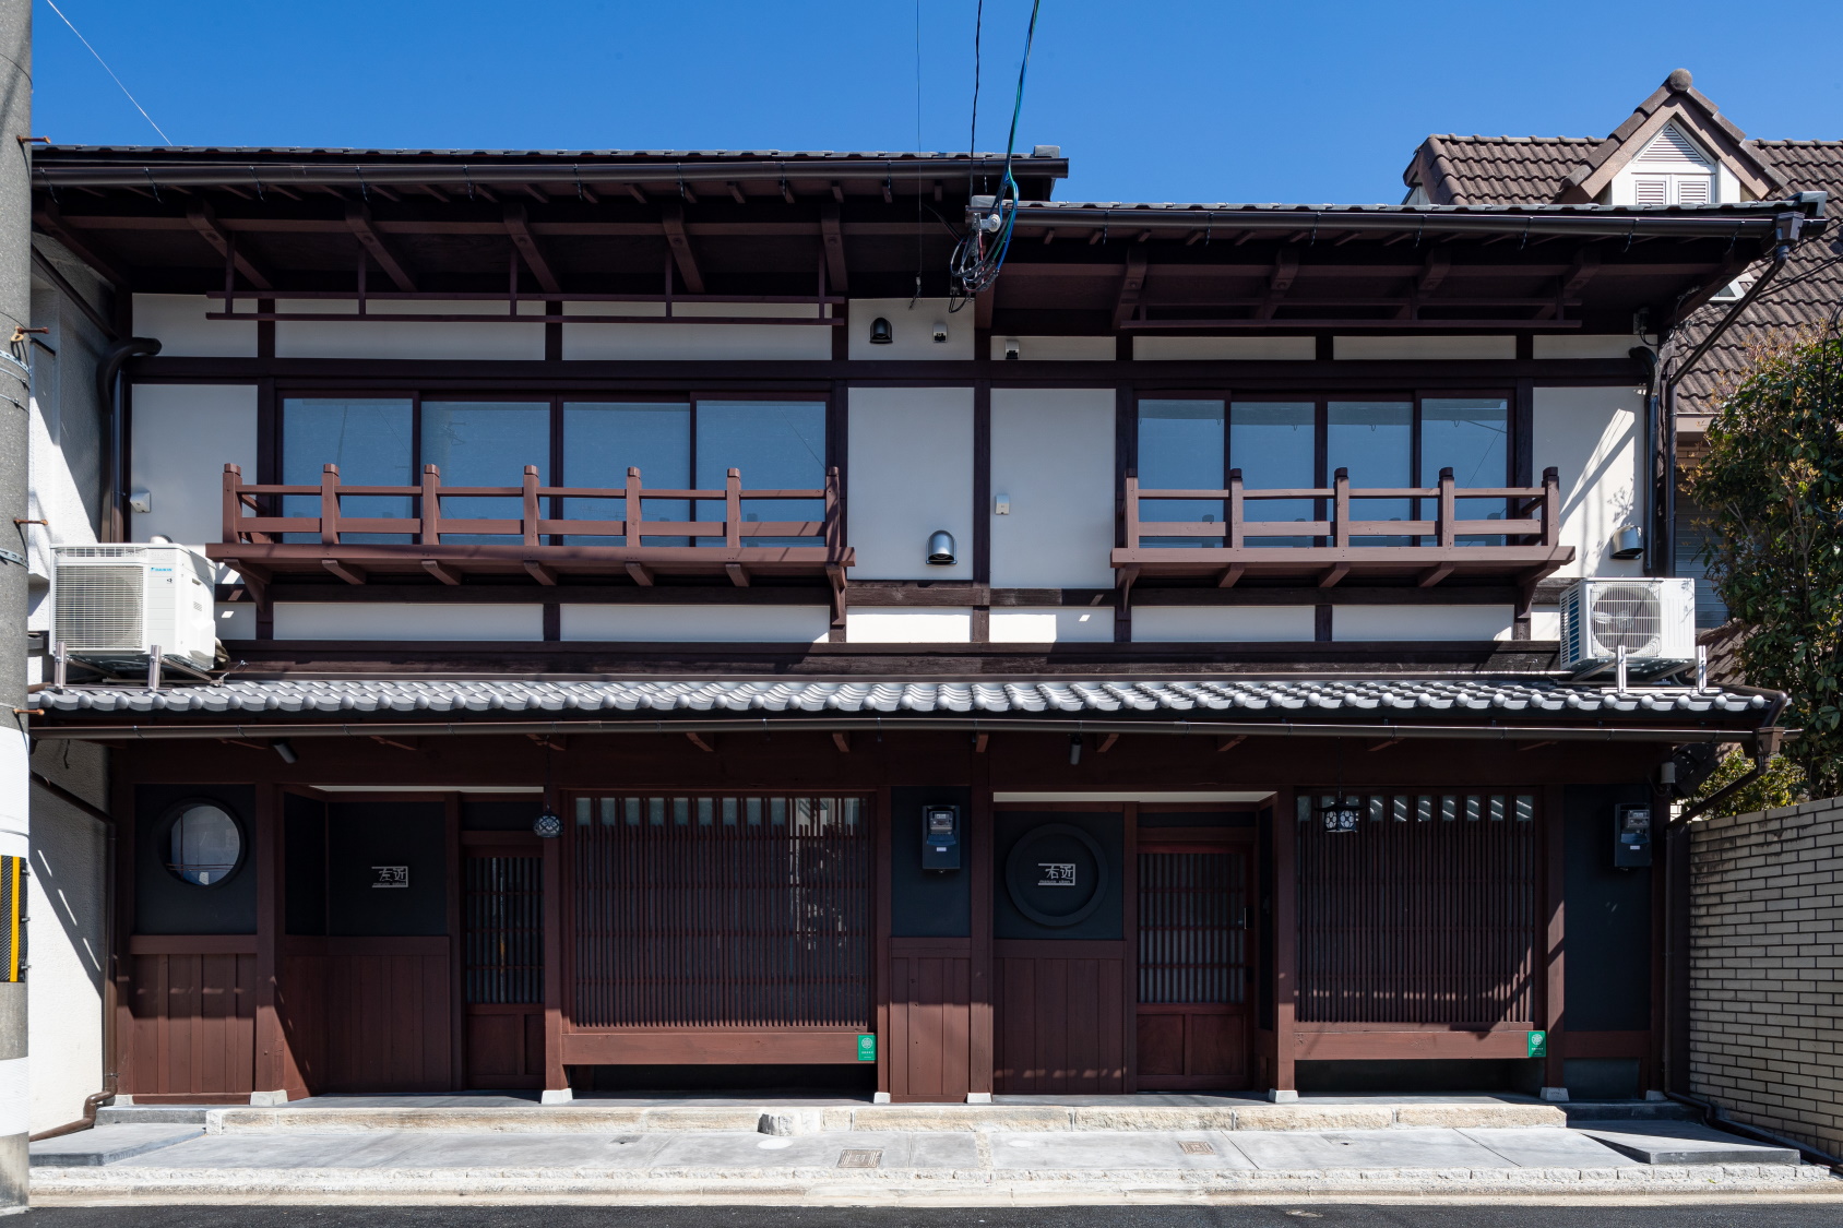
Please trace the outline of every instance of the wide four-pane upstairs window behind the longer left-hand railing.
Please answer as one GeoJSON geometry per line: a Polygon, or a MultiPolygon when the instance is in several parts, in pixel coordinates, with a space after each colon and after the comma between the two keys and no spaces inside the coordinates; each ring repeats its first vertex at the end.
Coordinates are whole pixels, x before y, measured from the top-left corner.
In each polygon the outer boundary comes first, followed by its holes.
{"type": "MultiPolygon", "coordinates": [[[[444,487],[516,487],[525,466],[540,485],[625,490],[638,468],[643,489],[721,490],[739,470],[745,490],[818,490],[826,485],[826,402],[781,398],[575,400],[433,396],[289,396],[282,400],[282,483],[317,485],[324,465],[343,487],[413,487],[424,465],[444,487]]],[[[558,498],[551,516],[619,520],[605,498],[558,498]]],[[[722,520],[719,500],[649,498],[645,520],[722,520]]],[[[413,498],[348,494],[343,516],[411,516],[413,498]]],[[[743,500],[743,520],[820,520],[822,500],[743,500]]],[[[288,496],[284,514],[315,516],[317,496],[288,496]]],[[[446,518],[520,516],[520,500],[446,496],[446,518]]],[[[289,535],[299,537],[299,535],[289,535]]],[[[346,533],[348,542],[409,542],[404,533],[346,533]]],[[[446,542],[501,542],[498,535],[444,535],[446,542]]],[[[569,537],[581,544],[619,538],[569,537]]],[[[645,546],[686,546],[645,537],[645,546]]],[[[754,538],[754,544],[781,544],[754,538]]],[[[791,542],[787,542],[791,544],[791,542]]]]}

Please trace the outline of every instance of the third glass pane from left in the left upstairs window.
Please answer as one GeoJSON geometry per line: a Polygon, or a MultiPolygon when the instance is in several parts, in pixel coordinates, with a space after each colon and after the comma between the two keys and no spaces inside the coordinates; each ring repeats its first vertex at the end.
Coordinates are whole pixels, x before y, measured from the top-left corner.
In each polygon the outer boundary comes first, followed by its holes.
{"type": "MultiPolygon", "coordinates": [[[[627,489],[628,466],[640,470],[640,485],[654,490],[684,490],[691,485],[691,406],[689,404],[564,404],[566,487],[627,489]]],[[[571,520],[623,520],[621,500],[564,500],[571,520]]],[[[641,500],[643,520],[689,520],[689,500],[641,500]]],[[[619,537],[571,535],[568,544],[623,546],[619,537]]],[[[643,537],[640,546],[689,546],[686,537],[643,537]]]]}

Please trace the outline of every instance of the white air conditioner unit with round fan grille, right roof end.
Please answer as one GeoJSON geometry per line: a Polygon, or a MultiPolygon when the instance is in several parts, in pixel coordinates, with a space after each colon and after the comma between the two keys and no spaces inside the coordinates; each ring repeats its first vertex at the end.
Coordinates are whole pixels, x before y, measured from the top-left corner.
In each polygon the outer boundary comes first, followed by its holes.
{"type": "Polygon", "coordinates": [[[1696,581],[1583,579],[1561,596],[1561,667],[1598,673],[1626,649],[1633,677],[1696,660],[1696,581]]]}

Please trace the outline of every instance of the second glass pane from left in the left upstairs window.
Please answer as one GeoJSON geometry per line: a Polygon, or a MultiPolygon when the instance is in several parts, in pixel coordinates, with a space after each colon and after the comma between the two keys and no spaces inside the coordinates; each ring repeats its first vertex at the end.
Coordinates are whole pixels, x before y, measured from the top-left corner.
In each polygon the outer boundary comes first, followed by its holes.
{"type": "MultiPolygon", "coordinates": [[[[422,461],[442,470],[444,487],[518,487],[525,465],[538,466],[538,485],[549,485],[551,407],[544,402],[426,400],[422,402],[422,461]]],[[[442,500],[448,520],[518,520],[518,498],[442,500]]],[[[442,533],[444,542],[516,542],[499,533],[442,533]]]]}

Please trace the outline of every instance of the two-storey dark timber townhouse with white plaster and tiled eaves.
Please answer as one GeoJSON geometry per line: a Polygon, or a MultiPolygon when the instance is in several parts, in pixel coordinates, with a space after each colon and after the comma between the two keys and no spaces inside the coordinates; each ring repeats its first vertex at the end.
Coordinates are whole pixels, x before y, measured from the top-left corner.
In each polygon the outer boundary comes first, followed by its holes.
{"type": "Polygon", "coordinates": [[[1819,205],[1015,171],[955,302],[993,155],[37,155],[160,343],[111,566],[223,647],[35,697],[112,749],[122,1095],[1670,1082],[1622,808],[1778,704],[1570,680],[1563,603],[1644,588],[1633,317],[1819,205]]]}

